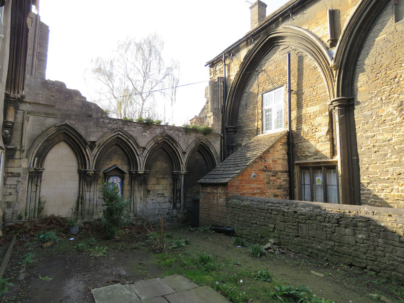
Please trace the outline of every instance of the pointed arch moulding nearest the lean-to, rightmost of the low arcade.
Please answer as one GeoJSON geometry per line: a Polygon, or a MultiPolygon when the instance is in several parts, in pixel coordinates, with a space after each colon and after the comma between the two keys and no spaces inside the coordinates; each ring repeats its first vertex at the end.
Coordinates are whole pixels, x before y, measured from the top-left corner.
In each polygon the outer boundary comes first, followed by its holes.
{"type": "Polygon", "coordinates": [[[198,151],[201,156],[203,156],[208,172],[214,169],[219,163],[219,156],[216,153],[215,148],[212,146],[211,142],[209,142],[204,137],[199,137],[194,140],[191,144],[189,144],[186,149],[184,167],[187,168],[188,163],[192,155],[198,151]]]}

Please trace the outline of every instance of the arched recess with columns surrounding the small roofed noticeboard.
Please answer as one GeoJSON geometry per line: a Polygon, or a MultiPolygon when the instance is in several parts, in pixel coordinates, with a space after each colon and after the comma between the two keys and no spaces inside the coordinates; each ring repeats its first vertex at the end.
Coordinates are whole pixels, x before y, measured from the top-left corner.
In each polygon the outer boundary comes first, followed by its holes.
{"type": "Polygon", "coordinates": [[[102,204],[102,192],[100,188],[105,182],[104,170],[116,165],[125,171],[123,180],[124,197],[131,200],[129,212],[136,213],[138,196],[138,168],[140,163],[140,147],[132,135],[122,129],[114,129],[105,134],[96,143],[92,154],[93,172],[92,184],[89,191],[94,197],[92,201],[93,214],[99,212],[102,204]]]}

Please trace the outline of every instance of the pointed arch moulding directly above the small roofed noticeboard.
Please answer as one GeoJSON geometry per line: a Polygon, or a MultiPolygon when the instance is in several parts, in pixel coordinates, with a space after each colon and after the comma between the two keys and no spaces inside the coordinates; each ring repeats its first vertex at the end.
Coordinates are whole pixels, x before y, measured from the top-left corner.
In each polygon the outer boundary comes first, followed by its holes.
{"type": "Polygon", "coordinates": [[[138,169],[140,147],[132,135],[120,128],[108,132],[95,143],[92,153],[94,169],[99,169],[100,161],[102,161],[104,153],[115,145],[119,146],[124,151],[129,161],[129,169],[138,169]]]}

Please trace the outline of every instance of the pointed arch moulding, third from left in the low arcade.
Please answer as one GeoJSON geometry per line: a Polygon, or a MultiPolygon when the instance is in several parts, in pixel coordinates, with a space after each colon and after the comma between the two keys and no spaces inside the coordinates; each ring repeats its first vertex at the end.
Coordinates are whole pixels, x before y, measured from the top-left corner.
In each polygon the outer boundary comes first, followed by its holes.
{"type": "Polygon", "coordinates": [[[168,134],[162,134],[151,139],[143,151],[143,169],[147,170],[148,160],[162,148],[170,157],[173,169],[181,171],[183,169],[182,148],[177,141],[168,134]]]}

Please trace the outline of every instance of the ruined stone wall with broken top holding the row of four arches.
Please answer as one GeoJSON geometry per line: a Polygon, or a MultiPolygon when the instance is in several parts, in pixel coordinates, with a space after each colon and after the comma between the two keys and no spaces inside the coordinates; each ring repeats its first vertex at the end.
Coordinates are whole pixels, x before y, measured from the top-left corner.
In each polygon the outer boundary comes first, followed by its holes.
{"type": "MultiPolygon", "coordinates": [[[[209,150],[208,157],[212,162],[218,162],[218,134],[205,136],[202,132],[185,133],[182,127],[148,126],[145,123],[110,118],[97,105],[87,102],[79,91],[67,89],[66,85],[59,81],[45,81],[27,76],[25,92],[26,98],[19,103],[16,111],[15,128],[10,143],[13,148],[6,151],[4,199],[8,219],[17,218],[18,214],[29,216],[26,205],[31,204],[31,208],[34,208],[36,203],[32,200],[35,196],[33,188],[36,186],[36,179],[32,181],[30,174],[34,173],[36,178],[36,169],[41,167],[38,163],[40,160],[34,155],[46,158],[45,146],[52,146],[59,141],[67,140],[79,162],[82,162],[79,171],[83,171],[84,175],[81,177],[81,192],[78,194],[85,197],[83,215],[88,218],[98,217],[102,204],[99,188],[105,179],[103,170],[113,164],[135,172],[131,175],[132,185],[129,184],[129,176],[125,176],[124,193],[125,197],[129,197],[130,186],[133,187],[131,198],[136,209],[132,210],[132,214],[143,216],[146,210],[150,209],[148,203],[153,202],[146,198],[144,186],[147,187],[147,178],[146,183],[141,181],[142,174],[147,175],[142,172],[146,167],[145,156],[150,150],[167,145],[171,153],[168,161],[172,169],[185,173],[185,157],[190,157],[188,154],[193,150],[192,146],[200,144],[203,138],[207,143],[202,146],[209,150]],[[59,133],[61,126],[70,130],[59,133]],[[72,132],[76,137],[71,137],[72,132]],[[44,154],[38,151],[42,149],[44,154]],[[172,164],[174,162],[175,167],[172,164]]],[[[198,148],[193,152],[197,150],[198,148]]],[[[155,171],[155,177],[167,177],[163,170],[159,171],[158,166],[155,171]]],[[[170,171],[170,176],[172,173],[173,171],[170,171]]],[[[177,190],[180,193],[184,189],[177,187],[177,190]]],[[[39,197],[39,194],[37,196],[39,197]]],[[[170,192],[165,199],[171,196],[170,192]]],[[[169,204],[172,205],[171,202],[169,204]]]]}

